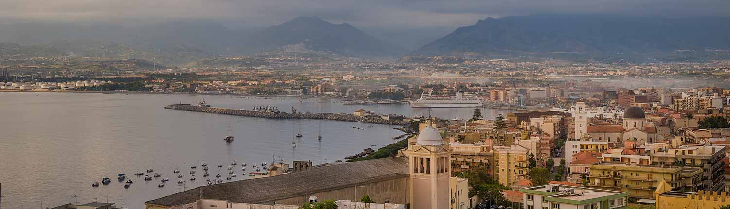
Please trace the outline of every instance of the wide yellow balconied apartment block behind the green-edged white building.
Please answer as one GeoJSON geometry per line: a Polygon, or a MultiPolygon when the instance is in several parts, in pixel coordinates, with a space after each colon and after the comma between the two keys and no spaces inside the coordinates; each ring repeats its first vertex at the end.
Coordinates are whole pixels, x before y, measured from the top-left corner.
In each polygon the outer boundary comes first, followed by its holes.
{"type": "Polygon", "coordinates": [[[588,186],[629,193],[629,197],[653,199],[653,191],[663,181],[675,189],[693,191],[702,179],[699,167],[636,165],[599,162],[591,165],[588,186]]]}

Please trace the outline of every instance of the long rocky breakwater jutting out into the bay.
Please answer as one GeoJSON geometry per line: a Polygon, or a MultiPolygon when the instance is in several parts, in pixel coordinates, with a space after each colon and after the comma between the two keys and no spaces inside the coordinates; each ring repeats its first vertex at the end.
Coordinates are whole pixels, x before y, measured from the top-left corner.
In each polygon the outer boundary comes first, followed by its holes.
{"type": "Polygon", "coordinates": [[[373,124],[384,124],[384,125],[407,125],[407,122],[393,119],[382,119],[380,117],[358,117],[353,114],[332,114],[332,113],[287,113],[287,112],[269,112],[269,111],[250,111],[250,110],[237,110],[237,109],[223,109],[215,107],[202,107],[202,106],[191,106],[191,105],[171,105],[166,106],[165,109],[174,109],[182,111],[197,111],[207,112],[215,114],[230,114],[245,117],[263,117],[271,119],[331,119],[339,121],[350,121],[350,122],[364,122],[373,124]]]}

